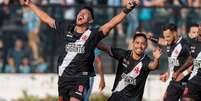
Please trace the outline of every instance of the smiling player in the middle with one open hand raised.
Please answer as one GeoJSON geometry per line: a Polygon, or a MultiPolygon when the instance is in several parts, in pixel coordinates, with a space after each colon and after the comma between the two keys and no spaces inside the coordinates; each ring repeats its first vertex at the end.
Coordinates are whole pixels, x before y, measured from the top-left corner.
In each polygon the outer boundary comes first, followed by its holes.
{"type": "MultiPolygon", "coordinates": [[[[99,47],[106,47],[99,43],[99,47]]],[[[108,48],[108,46],[106,47],[108,48]]],[[[159,66],[161,49],[153,50],[153,59],[145,54],[147,37],[144,33],[133,36],[132,49],[111,48],[108,52],[119,61],[112,96],[108,101],[141,101],[150,71],[159,66]]]]}

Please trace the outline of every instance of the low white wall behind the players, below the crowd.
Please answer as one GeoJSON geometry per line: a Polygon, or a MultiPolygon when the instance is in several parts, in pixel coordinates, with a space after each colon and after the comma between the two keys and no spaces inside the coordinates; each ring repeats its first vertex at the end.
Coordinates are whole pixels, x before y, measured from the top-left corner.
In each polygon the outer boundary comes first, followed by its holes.
{"type": "MultiPolygon", "coordinates": [[[[105,75],[106,87],[103,93],[111,94],[115,75],[105,75]]],[[[29,95],[45,97],[46,95],[57,96],[56,74],[0,74],[0,99],[22,97],[25,90],[29,95]]],[[[99,75],[95,77],[93,92],[98,92],[99,75]]],[[[150,75],[147,79],[144,99],[147,101],[162,101],[167,83],[159,81],[159,75],[150,75]]]]}

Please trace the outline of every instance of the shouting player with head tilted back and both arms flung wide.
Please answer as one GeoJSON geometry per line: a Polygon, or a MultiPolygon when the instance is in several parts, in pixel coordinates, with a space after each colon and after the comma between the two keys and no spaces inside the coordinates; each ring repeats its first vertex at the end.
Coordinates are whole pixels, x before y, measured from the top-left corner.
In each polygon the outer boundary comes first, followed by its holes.
{"type": "Polygon", "coordinates": [[[25,4],[41,19],[55,29],[63,41],[62,53],[58,59],[58,91],[59,101],[82,101],[89,77],[94,73],[94,49],[98,42],[106,37],[110,30],[122,22],[127,14],[139,4],[139,0],[130,0],[127,6],[109,22],[100,28],[89,29],[94,20],[93,10],[90,7],[82,8],[77,16],[76,23],[59,22],[47,15],[34,5],[31,0],[25,4]]]}

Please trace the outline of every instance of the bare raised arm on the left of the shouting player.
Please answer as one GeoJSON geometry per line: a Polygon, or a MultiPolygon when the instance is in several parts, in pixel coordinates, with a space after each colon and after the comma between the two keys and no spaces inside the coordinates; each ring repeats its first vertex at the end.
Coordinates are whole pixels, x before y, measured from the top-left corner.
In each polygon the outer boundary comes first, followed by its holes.
{"type": "Polygon", "coordinates": [[[55,20],[50,17],[47,13],[42,11],[39,7],[32,3],[31,0],[24,0],[24,4],[28,6],[36,15],[42,20],[42,22],[48,24],[52,28],[55,27],[55,20]]]}

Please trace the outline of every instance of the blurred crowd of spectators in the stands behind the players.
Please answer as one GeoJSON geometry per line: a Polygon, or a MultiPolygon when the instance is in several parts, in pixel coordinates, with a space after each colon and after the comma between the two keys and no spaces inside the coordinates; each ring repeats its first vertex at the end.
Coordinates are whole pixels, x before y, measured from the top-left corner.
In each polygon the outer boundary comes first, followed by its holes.
{"type": "MultiPolygon", "coordinates": [[[[33,0],[56,19],[73,21],[80,5],[93,5],[98,21],[110,19],[127,0],[33,0]],[[97,6],[97,7],[96,7],[97,6]],[[102,7],[99,9],[99,7],[102,7]],[[105,13],[107,12],[107,13],[105,13]]],[[[0,0],[0,72],[56,72],[59,41],[51,29],[23,5],[23,0],[0,0]],[[55,48],[56,47],[56,48],[55,48]],[[50,67],[52,66],[52,67],[50,67]]],[[[189,28],[201,20],[201,0],[141,0],[141,7],[117,26],[119,37],[129,43],[135,31],[161,35],[161,26],[173,22],[186,37],[189,28]]],[[[114,33],[114,31],[112,31],[114,33]]],[[[122,41],[123,42],[123,41],[122,41]]]]}

